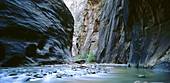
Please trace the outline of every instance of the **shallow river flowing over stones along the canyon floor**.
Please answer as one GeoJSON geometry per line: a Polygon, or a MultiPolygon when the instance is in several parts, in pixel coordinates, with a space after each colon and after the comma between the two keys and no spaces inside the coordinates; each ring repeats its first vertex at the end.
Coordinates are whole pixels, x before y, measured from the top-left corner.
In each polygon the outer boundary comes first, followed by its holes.
{"type": "Polygon", "coordinates": [[[8,67],[0,68],[0,83],[170,83],[170,73],[104,64],[8,67]]]}

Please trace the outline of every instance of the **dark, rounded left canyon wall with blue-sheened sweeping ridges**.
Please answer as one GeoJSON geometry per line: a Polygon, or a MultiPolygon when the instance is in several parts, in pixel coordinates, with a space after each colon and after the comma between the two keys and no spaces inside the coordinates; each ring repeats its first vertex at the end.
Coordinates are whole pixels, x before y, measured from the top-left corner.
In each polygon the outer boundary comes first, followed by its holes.
{"type": "Polygon", "coordinates": [[[1,66],[70,63],[73,25],[62,0],[0,0],[1,66]]]}

